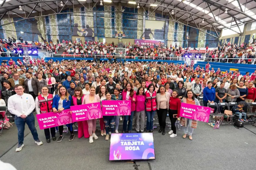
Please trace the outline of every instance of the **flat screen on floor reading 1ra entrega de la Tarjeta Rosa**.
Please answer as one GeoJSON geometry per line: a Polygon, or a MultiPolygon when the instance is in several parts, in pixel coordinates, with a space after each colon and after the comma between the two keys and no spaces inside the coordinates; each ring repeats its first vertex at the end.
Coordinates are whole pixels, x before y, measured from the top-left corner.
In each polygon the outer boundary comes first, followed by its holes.
{"type": "Polygon", "coordinates": [[[153,133],[111,134],[109,160],[155,159],[153,133]]]}

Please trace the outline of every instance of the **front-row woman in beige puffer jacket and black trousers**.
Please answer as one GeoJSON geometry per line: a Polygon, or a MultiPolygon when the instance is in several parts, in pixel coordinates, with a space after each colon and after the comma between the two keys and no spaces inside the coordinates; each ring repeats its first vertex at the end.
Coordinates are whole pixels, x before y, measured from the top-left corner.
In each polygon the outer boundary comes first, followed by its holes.
{"type": "Polygon", "coordinates": [[[157,103],[156,112],[158,116],[158,122],[160,125],[160,129],[158,133],[162,132],[162,135],[165,134],[166,116],[169,109],[170,97],[171,97],[170,93],[165,92],[165,87],[161,85],[156,94],[156,103],[157,103]]]}

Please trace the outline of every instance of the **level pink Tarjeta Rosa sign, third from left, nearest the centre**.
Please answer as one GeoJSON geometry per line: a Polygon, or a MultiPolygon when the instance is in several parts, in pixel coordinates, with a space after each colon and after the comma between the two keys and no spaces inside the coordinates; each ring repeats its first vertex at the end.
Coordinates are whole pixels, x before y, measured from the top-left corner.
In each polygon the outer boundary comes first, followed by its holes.
{"type": "Polygon", "coordinates": [[[103,116],[131,115],[131,100],[102,100],[103,116]]]}

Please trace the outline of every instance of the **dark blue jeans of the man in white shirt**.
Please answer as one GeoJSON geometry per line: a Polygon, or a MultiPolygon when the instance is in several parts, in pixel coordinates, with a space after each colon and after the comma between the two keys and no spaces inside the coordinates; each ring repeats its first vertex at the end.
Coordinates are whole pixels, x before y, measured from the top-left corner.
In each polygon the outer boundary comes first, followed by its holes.
{"type": "Polygon", "coordinates": [[[35,128],[35,117],[33,113],[30,113],[28,117],[26,117],[25,119],[15,116],[15,124],[18,129],[18,141],[20,145],[22,145],[24,141],[24,130],[25,130],[26,123],[29,126],[29,130],[31,131],[31,134],[33,135],[34,140],[37,141],[39,139],[36,128],[35,128]]]}

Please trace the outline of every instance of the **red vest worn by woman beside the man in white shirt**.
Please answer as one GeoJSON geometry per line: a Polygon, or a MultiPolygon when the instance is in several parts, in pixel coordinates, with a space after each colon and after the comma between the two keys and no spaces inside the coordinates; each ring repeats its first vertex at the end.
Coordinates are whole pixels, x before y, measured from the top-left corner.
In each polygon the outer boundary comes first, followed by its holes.
{"type": "Polygon", "coordinates": [[[45,100],[44,97],[42,97],[42,95],[38,96],[41,114],[53,112],[53,109],[52,109],[53,96],[52,94],[48,94],[48,95],[49,96],[47,97],[47,101],[45,100]]]}

